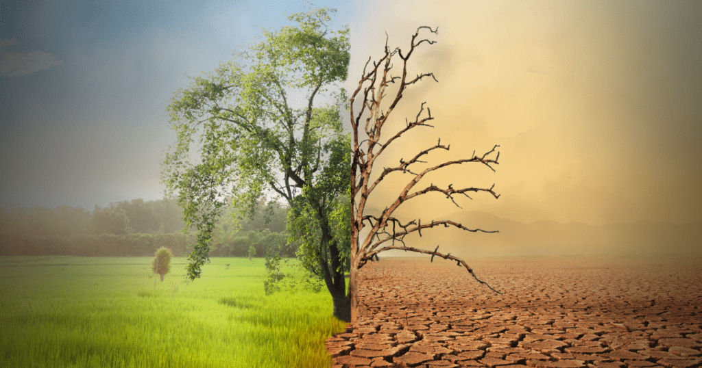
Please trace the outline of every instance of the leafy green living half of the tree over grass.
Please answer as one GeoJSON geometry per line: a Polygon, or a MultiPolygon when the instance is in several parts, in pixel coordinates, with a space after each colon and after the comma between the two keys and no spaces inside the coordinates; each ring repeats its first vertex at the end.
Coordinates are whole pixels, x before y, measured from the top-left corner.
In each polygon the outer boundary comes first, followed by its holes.
{"type": "Polygon", "coordinates": [[[162,177],[167,193],[178,196],[186,228],[197,229],[187,266],[191,280],[200,277],[209,259],[225,198],[232,196],[241,216],[253,217],[256,201],[270,196],[314,217],[319,236],[306,264],[324,279],[334,315],[349,320],[343,257],[350,243],[338,243],[333,229],[350,224],[348,217],[341,225],[330,217],[337,198],[348,191],[351,165],[351,137],[339,114],[347,104],[340,83],[350,60],[349,30],[327,29],[335,11],[293,14],[289,19],[298,27],[265,31],[265,41],[221,64],[208,78],[195,79],[187,90],[179,89],[168,107],[178,138],[166,154],[162,177]],[[326,95],[336,97],[336,104],[318,106],[315,98],[329,88],[338,88],[326,95]],[[291,103],[300,97],[304,103],[294,107],[291,103]],[[200,162],[191,164],[195,145],[200,162]]]}

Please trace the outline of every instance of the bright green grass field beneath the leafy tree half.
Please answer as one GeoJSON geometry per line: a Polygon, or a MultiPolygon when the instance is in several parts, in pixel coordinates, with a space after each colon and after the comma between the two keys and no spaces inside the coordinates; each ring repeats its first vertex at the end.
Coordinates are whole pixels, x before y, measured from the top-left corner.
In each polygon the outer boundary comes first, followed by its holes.
{"type": "Polygon", "coordinates": [[[164,282],[150,262],[0,257],[0,367],[331,367],[345,323],[326,287],[266,296],[263,259],[213,258],[190,283],[186,259],[164,282]]]}

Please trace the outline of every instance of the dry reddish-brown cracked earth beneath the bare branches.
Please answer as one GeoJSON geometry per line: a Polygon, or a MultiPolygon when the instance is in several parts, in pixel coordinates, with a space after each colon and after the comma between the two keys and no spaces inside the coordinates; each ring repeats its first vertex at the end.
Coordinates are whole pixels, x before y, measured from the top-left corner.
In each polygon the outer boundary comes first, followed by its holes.
{"type": "Polygon", "coordinates": [[[333,368],[702,367],[702,261],[389,259],[360,273],[333,368]]]}

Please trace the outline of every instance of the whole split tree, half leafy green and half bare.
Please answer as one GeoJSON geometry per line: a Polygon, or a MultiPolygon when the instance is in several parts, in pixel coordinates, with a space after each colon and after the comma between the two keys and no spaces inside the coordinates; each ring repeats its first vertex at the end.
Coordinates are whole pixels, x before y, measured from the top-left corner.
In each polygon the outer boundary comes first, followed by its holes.
{"type": "MultiPolygon", "coordinates": [[[[439,191],[453,200],[453,195],[468,191],[490,189],[439,189],[431,185],[415,193],[409,191],[434,170],[447,165],[476,162],[490,167],[498,157],[487,158],[497,146],[482,157],[449,161],[415,174],[397,200],[379,217],[364,216],[369,194],[387,175],[395,171],[411,172],[410,166],[435,149],[446,149],[439,142],[421,151],[410,161],[401,161],[396,168],[385,169],[373,183],[370,175],[373,163],[383,151],[404,132],[419,126],[430,126],[421,118],[420,107],[416,121],[380,142],[380,131],[392,109],[402,98],[404,90],[433,74],[420,74],[406,79],[406,64],[416,46],[417,33],[412,37],[409,53],[398,49],[390,52],[385,44],[385,56],[373,63],[373,70],[364,69],[359,87],[350,99],[354,144],[344,129],[340,109],[348,104],[345,81],[350,60],[349,29],[338,32],[328,29],[333,9],[315,9],[289,17],[298,27],[284,27],[279,32],[265,32],[265,40],[237,55],[237,60],[220,65],[214,74],[198,77],[189,88],[180,88],[168,111],[171,126],[176,131],[176,144],[169,148],[161,173],[166,192],[177,195],[183,207],[185,228],[197,229],[197,243],[188,257],[187,277],[199,278],[201,266],[209,260],[210,245],[216,220],[233,198],[237,213],[253,217],[253,209],[263,196],[284,200],[290,206],[288,230],[290,239],[300,242],[300,264],[313,278],[323,280],[333,300],[333,315],[340,320],[355,320],[358,306],[358,270],[379,252],[399,249],[408,233],[444,225],[471,230],[451,221],[409,222],[402,224],[392,213],[405,200],[430,191],[439,191]],[[402,77],[388,76],[390,60],[395,55],[403,61],[402,77]],[[399,81],[398,81],[399,80],[399,81]],[[363,89],[366,83],[370,83],[363,89]],[[388,111],[380,110],[388,84],[399,83],[399,90],[388,111]],[[336,104],[319,106],[315,99],[328,90],[337,90],[327,97],[336,97],[336,104]],[[363,93],[362,93],[363,90],[363,93]],[[293,91],[294,95],[291,95],[293,91]],[[296,97],[305,97],[303,106],[293,107],[296,97]],[[355,115],[353,102],[364,97],[362,108],[355,115]],[[366,116],[369,139],[359,143],[359,123],[366,116]],[[191,149],[198,149],[192,155],[191,149]],[[197,158],[199,156],[199,163],[197,158]],[[195,161],[195,162],[192,162],[195,161]],[[351,173],[351,177],[349,174],[351,173]],[[371,231],[359,243],[359,231],[368,223],[371,231]],[[392,226],[392,233],[388,226],[392,226]],[[397,228],[402,231],[395,231],[397,228]],[[380,238],[385,236],[385,238],[380,238]],[[378,238],[373,243],[373,237],[378,238]],[[387,244],[392,240],[392,243],[387,244]],[[345,272],[350,273],[350,287],[345,289],[345,272]]],[[[431,31],[436,33],[436,31],[431,31]]],[[[370,60],[369,60],[370,61],[370,60]]],[[[366,63],[366,68],[368,64],[366,63]]],[[[499,154],[497,154],[499,155],[499,154]]],[[[490,167],[491,168],[491,167],[490,167]]],[[[454,202],[455,203],[455,202],[454,202]]],[[[486,231],[492,232],[492,231],[486,231]]],[[[404,244],[404,243],[403,243],[404,244]]],[[[432,254],[451,259],[472,269],[451,254],[402,247],[403,250],[432,254]]],[[[274,264],[277,258],[271,260],[274,264]]],[[[267,263],[268,260],[267,260],[267,263]]],[[[274,266],[269,268],[269,271],[274,266]]],[[[274,280],[277,273],[269,275],[274,280]]],[[[474,275],[475,276],[475,275],[474,275]]]]}

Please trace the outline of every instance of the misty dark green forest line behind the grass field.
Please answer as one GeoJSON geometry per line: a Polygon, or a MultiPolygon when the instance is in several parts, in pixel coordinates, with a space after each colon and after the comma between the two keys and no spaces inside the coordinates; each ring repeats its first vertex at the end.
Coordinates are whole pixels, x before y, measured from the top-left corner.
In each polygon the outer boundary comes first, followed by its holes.
{"type": "MultiPolygon", "coordinates": [[[[294,257],[296,247],[286,245],[288,208],[274,206],[267,226],[265,204],[258,203],[252,220],[237,221],[228,208],[215,228],[212,257],[248,257],[249,247],[263,257],[279,247],[294,257]]],[[[182,233],[183,209],[174,199],[145,202],[138,198],[110,203],[93,212],[82,207],[25,208],[14,203],[0,207],[0,255],[72,255],[88,257],[149,257],[168,247],[175,257],[190,253],[194,236],[182,233]]]]}

